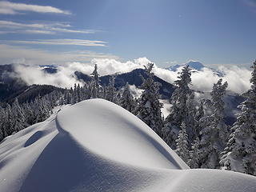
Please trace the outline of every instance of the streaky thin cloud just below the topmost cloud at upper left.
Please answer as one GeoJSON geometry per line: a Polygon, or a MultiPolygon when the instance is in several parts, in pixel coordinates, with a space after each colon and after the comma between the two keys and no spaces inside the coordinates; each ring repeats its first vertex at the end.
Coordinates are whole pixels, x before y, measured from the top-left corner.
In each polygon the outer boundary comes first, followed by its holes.
{"type": "Polygon", "coordinates": [[[56,34],[59,33],[75,33],[75,34],[94,34],[96,30],[72,30],[69,24],[61,22],[52,23],[22,23],[0,20],[0,33],[23,33],[23,34],[56,34]]]}

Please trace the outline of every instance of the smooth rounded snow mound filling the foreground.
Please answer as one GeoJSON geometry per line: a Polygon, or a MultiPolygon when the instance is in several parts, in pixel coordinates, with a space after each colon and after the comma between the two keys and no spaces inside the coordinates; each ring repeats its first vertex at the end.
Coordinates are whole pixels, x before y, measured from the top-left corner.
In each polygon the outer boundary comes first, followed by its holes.
{"type": "Polygon", "coordinates": [[[150,127],[111,102],[65,106],[0,145],[0,191],[254,191],[256,179],[190,170],[150,127]]]}

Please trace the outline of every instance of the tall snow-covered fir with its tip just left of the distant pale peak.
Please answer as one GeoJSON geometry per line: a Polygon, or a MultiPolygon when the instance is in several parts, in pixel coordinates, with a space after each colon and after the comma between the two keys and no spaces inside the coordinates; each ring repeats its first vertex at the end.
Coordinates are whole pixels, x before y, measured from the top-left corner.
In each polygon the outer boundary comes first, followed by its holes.
{"type": "Polygon", "coordinates": [[[195,121],[196,113],[194,106],[194,92],[190,90],[191,73],[189,66],[185,66],[178,76],[178,80],[174,82],[177,88],[174,90],[170,98],[170,114],[166,117],[165,126],[162,129],[163,139],[170,146],[175,148],[175,140],[178,131],[181,129],[182,122],[186,125],[186,131],[189,140],[195,138],[195,121]]]}

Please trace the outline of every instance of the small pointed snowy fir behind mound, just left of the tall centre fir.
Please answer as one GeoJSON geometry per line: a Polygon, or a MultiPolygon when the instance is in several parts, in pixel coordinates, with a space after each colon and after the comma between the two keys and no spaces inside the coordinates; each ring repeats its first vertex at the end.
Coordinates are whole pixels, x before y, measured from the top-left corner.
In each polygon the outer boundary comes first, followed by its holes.
{"type": "Polygon", "coordinates": [[[136,106],[136,102],[132,94],[130,94],[130,87],[128,82],[124,87],[122,92],[122,97],[120,98],[119,105],[122,106],[124,109],[129,110],[132,112],[136,106]]]}

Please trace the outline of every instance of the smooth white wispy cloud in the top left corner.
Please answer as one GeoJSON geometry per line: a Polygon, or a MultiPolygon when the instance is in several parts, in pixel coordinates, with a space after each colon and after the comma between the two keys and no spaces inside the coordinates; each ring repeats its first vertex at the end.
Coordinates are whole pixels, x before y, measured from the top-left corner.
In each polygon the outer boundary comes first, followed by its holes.
{"type": "Polygon", "coordinates": [[[61,10],[53,6],[38,6],[16,2],[0,2],[0,14],[23,14],[26,11],[42,14],[71,14],[70,11],[61,10]]]}

